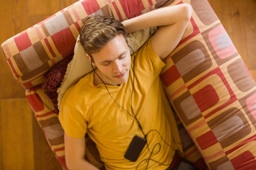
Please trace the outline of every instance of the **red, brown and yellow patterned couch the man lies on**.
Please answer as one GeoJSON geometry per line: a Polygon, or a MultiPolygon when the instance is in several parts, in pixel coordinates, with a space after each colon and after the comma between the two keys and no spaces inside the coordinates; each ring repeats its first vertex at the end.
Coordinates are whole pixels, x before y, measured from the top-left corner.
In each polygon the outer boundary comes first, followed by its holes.
{"type": "MultiPolygon", "coordinates": [[[[58,89],[82,24],[89,15],[123,21],[179,3],[191,4],[193,15],[182,40],[166,57],[160,77],[176,116],[182,156],[200,170],[256,169],[256,83],[207,0],[80,0],[2,43],[13,76],[26,89],[63,169],[67,170],[58,89]]],[[[89,137],[86,145],[86,159],[104,169],[89,137]]]]}

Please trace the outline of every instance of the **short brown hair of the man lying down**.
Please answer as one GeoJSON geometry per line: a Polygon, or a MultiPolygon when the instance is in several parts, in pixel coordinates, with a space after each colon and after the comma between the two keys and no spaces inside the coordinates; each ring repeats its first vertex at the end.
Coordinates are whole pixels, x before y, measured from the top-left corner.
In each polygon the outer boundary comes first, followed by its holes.
{"type": "Polygon", "coordinates": [[[127,32],[124,25],[110,16],[92,15],[80,30],[80,42],[83,49],[92,57],[117,35],[123,35],[128,44],[127,32]]]}

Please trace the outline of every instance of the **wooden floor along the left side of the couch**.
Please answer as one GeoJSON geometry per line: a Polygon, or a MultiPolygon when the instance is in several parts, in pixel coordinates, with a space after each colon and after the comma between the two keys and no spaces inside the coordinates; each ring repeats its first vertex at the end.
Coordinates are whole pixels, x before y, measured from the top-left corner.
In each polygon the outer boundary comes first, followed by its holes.
{"type": "MultiPolygon", "coordinates": [[[[0,44],[76,0],[0,1],[0,44]]],[[[62,170],[0,53],[0,170],[62,170]]]]}

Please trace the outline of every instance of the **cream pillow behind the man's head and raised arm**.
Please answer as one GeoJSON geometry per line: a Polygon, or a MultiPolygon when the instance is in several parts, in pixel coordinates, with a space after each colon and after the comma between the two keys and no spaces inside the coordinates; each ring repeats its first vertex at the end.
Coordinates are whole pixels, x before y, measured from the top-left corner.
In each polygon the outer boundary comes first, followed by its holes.
{"type": "MultiPolygon", "coordinates": [[[[152,27],[130,33],[128,34],[128,44],[132,47],[133,51],[136,52],[148,40],[148,38],[155,33],[156,30],[156,27],[152,27]]],[[[131,50],[130,53],[132,54],[131,50]]],[[[77,83],[79,79],[92,71],[91,63],[85,55],[86,52],[84,51],[80,43],[80,37],[78,36],[74,48],[73,59],[67,65],[67,71],[61,82],[61,86],[57,89],[58,109],[61,106],[61,101],[65,91],[70,88],[70,86],[77,83]]]]}

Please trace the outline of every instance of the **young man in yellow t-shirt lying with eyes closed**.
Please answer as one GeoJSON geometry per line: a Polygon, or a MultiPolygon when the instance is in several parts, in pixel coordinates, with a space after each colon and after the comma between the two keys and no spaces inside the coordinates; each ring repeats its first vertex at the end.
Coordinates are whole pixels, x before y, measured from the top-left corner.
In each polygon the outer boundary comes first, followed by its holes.
{"type": "Polygon", "coordinates": [[[175,151],[182,152],[159,73],[191,13],[189,4],[179,4],[122,23],[100,15],[88,18],[80,41],[97,68],[65,92],[59,113],[70,170],[97,170],[84,159],[85,133],[96,143],[107,170],[166,170],[175,151]],[[130,54],[127,33],[153,26],[158,26],[155,35],[130,54]]]}

